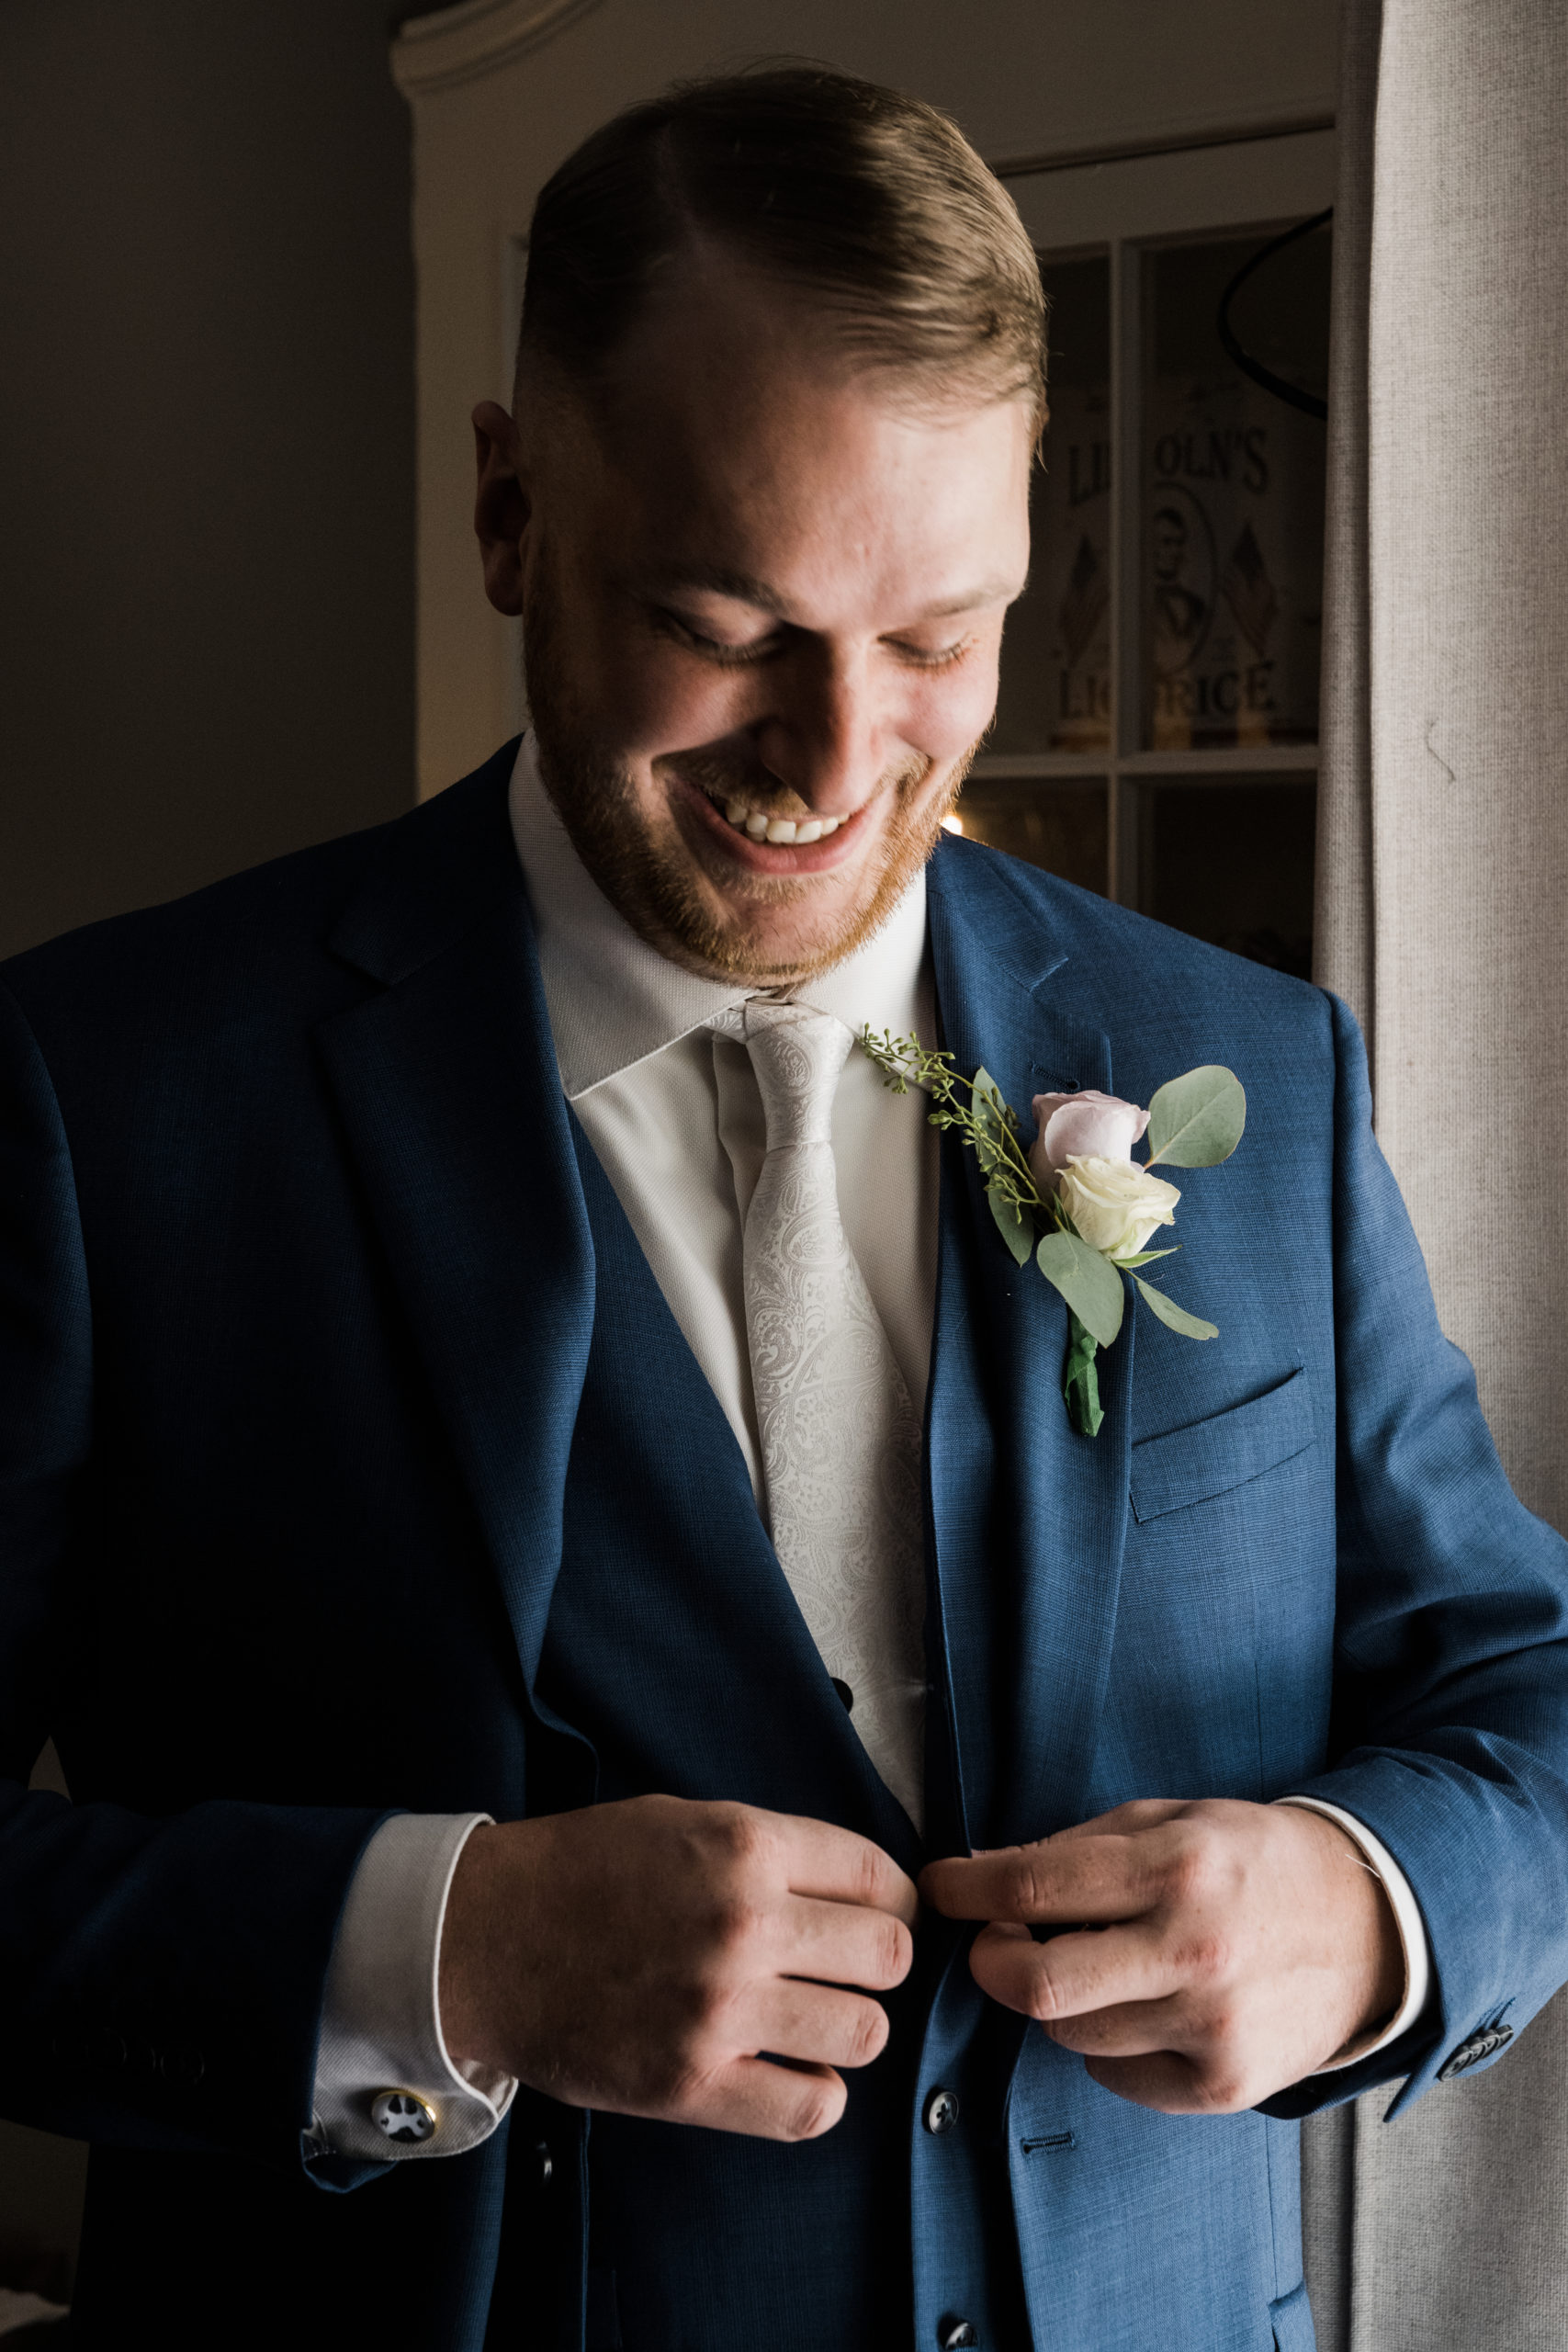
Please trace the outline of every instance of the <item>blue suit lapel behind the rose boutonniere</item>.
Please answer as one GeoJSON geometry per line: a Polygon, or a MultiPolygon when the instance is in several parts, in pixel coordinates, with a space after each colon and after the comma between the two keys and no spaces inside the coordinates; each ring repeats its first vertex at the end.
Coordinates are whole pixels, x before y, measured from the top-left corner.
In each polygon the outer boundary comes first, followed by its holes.
{"type": "MultiPolygon", "coordinates": [[[[1030,1098],[1112,1089],[1110,1040],[1074,1011],[1067,955],[990,858],[931,866],[943,1044],[1030,1098]]],[[[1077,974],[1072,981],[1077,983],[1077,974]]],[[[997,1235],[973,1152],[945,1136],[929,1399],[936,1613],[961,1783],[954,1842],[1018,1844],[1081,1818],[1126,1536],[1133,1317],[1100,1357],[1105,1425],[1060,1397],[1067,1308],[997,1235]]]]}

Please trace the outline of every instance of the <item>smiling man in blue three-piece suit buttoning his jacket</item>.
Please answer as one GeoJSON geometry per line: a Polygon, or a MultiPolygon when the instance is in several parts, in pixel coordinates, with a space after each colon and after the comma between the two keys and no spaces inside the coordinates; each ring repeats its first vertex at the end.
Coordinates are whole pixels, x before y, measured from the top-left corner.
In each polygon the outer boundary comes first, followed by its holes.
{"type": "Polygon", "coordinates": [[[5,2082],[96,2143],[82,2343],[1295,2352],[1293,2117],[1563,1976],[1563,1550],[1352,1025],[938,847],[1039,355],[914,101],[621,118],[475,416],[529,739],[7,969],[5,1722],[75,1806],[9,1795],[5,2082]],[[1077,1435],[863,1025],[1023,1117],[1234,1065],[1222,1336],[1128,1315],[1077,1435]]]}

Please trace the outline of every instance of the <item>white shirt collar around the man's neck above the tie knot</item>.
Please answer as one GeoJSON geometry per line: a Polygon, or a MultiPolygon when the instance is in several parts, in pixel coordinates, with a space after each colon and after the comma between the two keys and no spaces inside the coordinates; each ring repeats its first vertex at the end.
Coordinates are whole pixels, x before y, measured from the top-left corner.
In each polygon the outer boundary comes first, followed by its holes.
{"type": "MultiPolygon", "coordinates": [[[[738,981],[682,971],[616,913],[555,814],[531,736],[517,746],[508,807],[534,906],[555,1061],[569,1101],[649,1054],[661,1054],[726,1004],[757,995],[738,981]]],[[[856,1035],[867,1023],[905,1035],[919,1028],[924,960],[922,868],[875,938],[832,971],[804,981],[795,1000],[837,1014],[856,1035]]]]}

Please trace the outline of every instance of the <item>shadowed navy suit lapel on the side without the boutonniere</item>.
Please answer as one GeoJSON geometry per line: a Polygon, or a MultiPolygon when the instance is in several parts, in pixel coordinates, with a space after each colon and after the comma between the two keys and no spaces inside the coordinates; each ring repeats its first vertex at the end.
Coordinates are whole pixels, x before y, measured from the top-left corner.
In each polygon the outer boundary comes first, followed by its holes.
{"type": "Polygon", "coordinates": [[[388,835],[331,946],[381,981],[327,1075],[529,1686],[562,1552],[592,1242],[505,818],[512,746],[388,835]]]}

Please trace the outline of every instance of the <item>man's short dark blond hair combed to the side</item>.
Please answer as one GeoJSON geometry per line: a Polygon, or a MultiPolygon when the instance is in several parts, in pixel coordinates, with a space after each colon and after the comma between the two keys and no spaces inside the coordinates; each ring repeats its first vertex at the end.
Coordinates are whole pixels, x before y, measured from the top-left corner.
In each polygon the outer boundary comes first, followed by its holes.
{"type": "Polygon", "coordinates": [[[1006,188],[947,115],[825,66],[677,82],[541,191],[517,339],[592,390],[693,235],[804,289],[853,367],[1044,419],[1046,303],[1006,188]]]}

